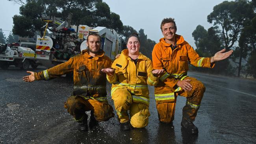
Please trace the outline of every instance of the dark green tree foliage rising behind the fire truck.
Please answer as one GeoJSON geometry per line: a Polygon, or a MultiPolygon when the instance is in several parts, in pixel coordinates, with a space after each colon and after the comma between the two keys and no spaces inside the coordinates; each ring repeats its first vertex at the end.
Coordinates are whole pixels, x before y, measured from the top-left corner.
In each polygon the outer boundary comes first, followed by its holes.
{"type": "Polygon", "coordinates": [[[117,32],[123,30],[119,15],[110,12],[108,4],[102,0],[26,0],[20,7],[20,16],[13,17],[13,33],[22,37],[33,37],[35,31],[43,33],[42,16],[61,17],[66,20],[73,13],[71,24],[104,26],[117,32]]]}

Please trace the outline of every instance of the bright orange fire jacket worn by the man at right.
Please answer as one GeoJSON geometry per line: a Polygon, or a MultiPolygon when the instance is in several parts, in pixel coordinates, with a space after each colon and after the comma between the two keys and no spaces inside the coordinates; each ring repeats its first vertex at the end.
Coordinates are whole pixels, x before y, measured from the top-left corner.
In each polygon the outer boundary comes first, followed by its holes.
{"type": "Polygon", "coordinates": [[[175,35],[176,47],[171,49],[171,44],[161,38],[152,51],[154,69],[165,69],[166,73],[159,79],[155,86],[155,98],[158,102],[172,102],[174,92],[182,90],[176,84],[178,80],[187,77],[188,64],[197,67],[213,68],[211,57],[199,57],[197,52],[186,42],[181,35],[175,35]]]}

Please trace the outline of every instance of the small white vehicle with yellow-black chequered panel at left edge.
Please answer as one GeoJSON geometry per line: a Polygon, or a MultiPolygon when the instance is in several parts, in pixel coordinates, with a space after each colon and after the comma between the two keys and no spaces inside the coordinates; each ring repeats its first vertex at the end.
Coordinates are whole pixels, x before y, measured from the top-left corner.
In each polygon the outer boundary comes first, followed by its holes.
{"type": "Polygon", "coordinates": [[[24,46],[30,45],[36,46],[35,43],[13,43],[13,44],[1,44],[0,43],[0,67],[7,69],[10,65],[15,65],[23,70],[27,70],[30,65],[32,68],[37,68],[40,65],[36,59],[35,51],[31,48],[24,46]]]}

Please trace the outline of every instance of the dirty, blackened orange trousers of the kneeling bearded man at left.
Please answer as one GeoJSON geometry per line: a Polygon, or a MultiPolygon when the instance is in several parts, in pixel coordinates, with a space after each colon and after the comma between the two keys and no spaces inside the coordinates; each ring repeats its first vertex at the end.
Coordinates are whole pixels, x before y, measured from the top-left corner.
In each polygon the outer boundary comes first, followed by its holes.
{"type": "Polygon", "coordinates": [[[113,108],[108,102],[85,99],[82,96],[70,96],[67,102],[64,103],[64,107],[78,122],[83,121],[83,118],[87,118],[85,111],[93,111],[94,117],[98,122],[107,121],[115,116],[113,108]]]}

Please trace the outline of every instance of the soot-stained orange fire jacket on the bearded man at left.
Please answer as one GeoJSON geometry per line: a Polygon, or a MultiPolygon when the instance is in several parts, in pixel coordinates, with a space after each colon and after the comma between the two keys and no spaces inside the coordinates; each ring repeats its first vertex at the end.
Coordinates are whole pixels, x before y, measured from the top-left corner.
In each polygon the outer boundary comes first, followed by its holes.
{"type": "Polygon", "coordinates": [[[88,50],[83,50],[81,54],[71,57],[65,63],[36,72],[35,80],[49,80],[73,72],[74,90],[72,95],[106,102],[106,74],[100,70],[110,67],[112,61],[104,53],[103,50],[100,50],[96,57],[92,57],[88,54],[88,50]]]}

